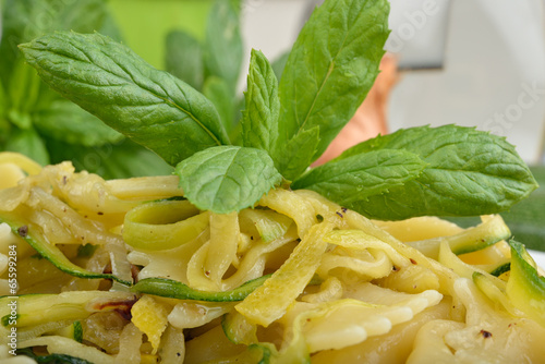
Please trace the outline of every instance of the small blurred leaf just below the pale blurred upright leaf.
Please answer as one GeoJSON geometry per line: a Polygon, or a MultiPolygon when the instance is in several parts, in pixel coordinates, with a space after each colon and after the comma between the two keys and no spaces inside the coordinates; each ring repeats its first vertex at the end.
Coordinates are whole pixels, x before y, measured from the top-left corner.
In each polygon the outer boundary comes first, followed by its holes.
{"type": "Polygon", "coordinates": [[[203,94],[214,104],[223,128],[227,133],[230,133],[234,124],[235,100],[233,90],[223,78],[209,76],[204,84],[203,94]]]}

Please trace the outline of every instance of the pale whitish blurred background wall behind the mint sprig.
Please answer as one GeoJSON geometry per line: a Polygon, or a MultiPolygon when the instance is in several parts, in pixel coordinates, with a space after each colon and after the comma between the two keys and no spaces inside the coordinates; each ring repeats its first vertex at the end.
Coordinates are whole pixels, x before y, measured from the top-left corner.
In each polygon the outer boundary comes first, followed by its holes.
{"type": "MultiPolygon", "coordinates": [[[[319,2],[246,0],[245,44],[275,59],[290,48],[319,2]]],[[[543,162],[543,1],[390,2],[392,32],[386,48],[400,68],[388,105],[390,131],[422,124],[476,126],[507,136],[526,162],[543,162]]]]}

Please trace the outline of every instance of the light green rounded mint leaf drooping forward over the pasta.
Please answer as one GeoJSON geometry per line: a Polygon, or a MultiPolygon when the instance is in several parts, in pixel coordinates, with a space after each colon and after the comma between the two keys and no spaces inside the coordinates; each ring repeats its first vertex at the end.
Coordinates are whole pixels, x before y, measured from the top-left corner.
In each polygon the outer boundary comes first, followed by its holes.
{"type": "Polygon", "coordinates": [[[282,177],[261,149],[219,146],[196,153],[175,167],[185,197],[217,214],[253,206],[282,177]]]}

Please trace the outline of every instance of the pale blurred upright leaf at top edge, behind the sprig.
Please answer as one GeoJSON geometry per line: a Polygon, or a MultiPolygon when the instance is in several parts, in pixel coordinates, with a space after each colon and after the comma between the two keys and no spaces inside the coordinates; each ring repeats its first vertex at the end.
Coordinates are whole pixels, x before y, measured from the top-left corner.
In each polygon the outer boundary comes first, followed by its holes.
{"type": "Polygon", "coordinates": [[[204,60],[210,75],[226,80],[234,92],[242,66],[242,36],[235,1],[216,0],[206,26],[204,60]]]}

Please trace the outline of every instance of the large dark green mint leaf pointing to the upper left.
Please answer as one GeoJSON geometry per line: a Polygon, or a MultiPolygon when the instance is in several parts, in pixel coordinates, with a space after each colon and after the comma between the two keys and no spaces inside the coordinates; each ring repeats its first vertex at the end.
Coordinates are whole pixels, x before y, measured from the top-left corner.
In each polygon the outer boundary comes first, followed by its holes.
{"type": "Polygon", "coordinates": [[[170,165],[229,144],[206,97],[109,37],[55,33],[20,47],[53,89],[170,165]]]}

